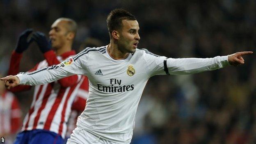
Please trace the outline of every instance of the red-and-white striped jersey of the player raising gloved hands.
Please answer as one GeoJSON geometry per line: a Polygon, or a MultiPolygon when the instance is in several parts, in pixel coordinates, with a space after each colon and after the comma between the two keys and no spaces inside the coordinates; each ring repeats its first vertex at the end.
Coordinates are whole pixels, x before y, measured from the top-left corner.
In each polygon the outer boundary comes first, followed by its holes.
{"type": "MultiPolygon", "coordinates": [[[[44,53],[45,60],[39,62],[30,71],[40,70],[46,66],[59,64],[67,57],[75,55],[75,51],[66,52],[61,56],[55,55],[53,50],[44,53]]],[[[17,72],[22,55],[13,52],[9,74],[17,72]],[[14,68],[16,66],[16,68],[14,68]]],[[[66,123],[71,113],[71,105],[77,91],[82,84],[82,76],[73,75],[67,79],[61,79],[45,85],[36,85],[34,88],[33,101],[29,112],[26,114],[21,131],[44,129],[62,135],[66,135],[66,123]]],[[[84,79],[84,78],[83,78],[84,79]]],[[[14,87],[12,91],[30,89],[31,86],[23,85],[14,87]]]]}

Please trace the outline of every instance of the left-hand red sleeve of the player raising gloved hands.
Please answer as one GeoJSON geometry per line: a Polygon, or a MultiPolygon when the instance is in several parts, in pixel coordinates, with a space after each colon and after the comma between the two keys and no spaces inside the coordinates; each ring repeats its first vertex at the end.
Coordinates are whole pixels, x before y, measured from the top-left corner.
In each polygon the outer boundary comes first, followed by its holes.
{"type": "MultiPolygon", "coordinates": [[[[11,53],[11,60],[10,60],[8,75],[18,74],[20,63],[21,63],[21,58],[22,58],[22,53],[16,53],[15,51],[13,51],[11,53]]],[[[35,70],[37,70],[37,66],[35,66],[30,71],[35,71],[35,70]]],[[[12,92],[27,91],[31,87],[32,86],[30,86],[30,85],[18,85],[16,87],[12,88],[12,89],[9,89],[9,91],[12,91],[12,92]]]]}

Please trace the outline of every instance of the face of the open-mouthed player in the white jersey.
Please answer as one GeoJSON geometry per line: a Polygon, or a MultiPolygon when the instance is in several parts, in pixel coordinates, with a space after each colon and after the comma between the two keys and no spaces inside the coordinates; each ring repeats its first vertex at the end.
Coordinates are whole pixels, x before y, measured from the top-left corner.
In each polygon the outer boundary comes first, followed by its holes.
{"type": "Polygon", "coordinates": [[[119,38],[119,49],[124,53],[135,53],[139,43],[138,21],[122,21],[122,29],[119,38]]]}

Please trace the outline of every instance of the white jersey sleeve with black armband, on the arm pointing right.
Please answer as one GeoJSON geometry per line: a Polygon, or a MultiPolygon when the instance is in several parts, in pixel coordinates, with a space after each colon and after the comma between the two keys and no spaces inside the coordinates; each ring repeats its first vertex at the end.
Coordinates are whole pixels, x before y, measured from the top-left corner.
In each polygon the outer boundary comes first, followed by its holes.
{"type": "Polygon", "coordinates": [[[149,76],[153,75],[185,75],[212,71],[230,65],[228,56],[213,58],[168,58],[155,55],[144,49],[144,60],[149,68],[149,76]],[[166,64],[164,61],[166,60],[166,64]],[[166,65],[166,66],[165,66],[166,65]],[[165,68],[166,67],[166,68],[165,68]]]}

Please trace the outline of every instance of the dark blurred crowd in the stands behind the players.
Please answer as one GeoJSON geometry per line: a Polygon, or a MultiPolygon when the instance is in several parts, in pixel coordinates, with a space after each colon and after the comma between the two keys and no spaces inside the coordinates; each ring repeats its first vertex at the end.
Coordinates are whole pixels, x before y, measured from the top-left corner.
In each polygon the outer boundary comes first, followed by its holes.
{"type": "MultiPolygon", "coordinates": [[[[255,0],[1,0],[0,73],[19,34],[46,33],[59,17],[73,18],[73,49],[89,38],[109,43],[107,14],[124,8],[140,26],[138,48],[166,57],[214,57],[256,46],[255,0]]],[[[43,59],[36,44],[25,51],[21,71],[43,59]]],[[[132,144],[255,144],[256,57],[238,67],[193,75],[154,76],[140,101],[132,144]]],[[[16,93],[23,117],[32,92],[16,93]]]]}

